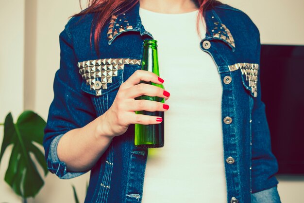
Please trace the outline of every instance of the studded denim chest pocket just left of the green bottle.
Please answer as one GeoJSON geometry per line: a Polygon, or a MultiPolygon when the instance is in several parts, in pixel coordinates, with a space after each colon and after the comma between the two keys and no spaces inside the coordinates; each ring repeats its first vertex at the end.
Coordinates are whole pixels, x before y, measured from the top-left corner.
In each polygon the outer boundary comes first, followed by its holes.
{"type": "Polygon", "coordinates": [[[116,97],[125,74],[140,67],[141,60],[130,58],[102,58],[78,63],[83,82],[81,90],[91,94],[98,115],[107,111],[116,97]]]}

